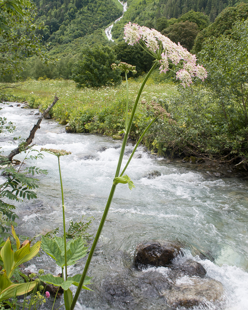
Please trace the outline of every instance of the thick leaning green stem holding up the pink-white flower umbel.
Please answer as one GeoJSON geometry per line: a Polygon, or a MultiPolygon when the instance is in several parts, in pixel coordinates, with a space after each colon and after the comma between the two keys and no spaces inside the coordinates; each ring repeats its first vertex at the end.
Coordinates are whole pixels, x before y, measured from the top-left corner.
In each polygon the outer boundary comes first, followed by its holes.
{"type": "MultiPolygon", "coordinates": [[[[120,152],[120,156],[119,156],[119,161],[118,161],[117,168],[116,168],[115,177],[119,176],[119,173],[120,173],[120,170],[121,170],[122,159],[123,159],[124,151],[125,151],[125,148],[126,148],[126,143],[127,143],[128,135],[129,135],[130,130],[131,130],[131,125],[132,125],[132,122],[133,122],[133,119],[134,119],[134,115],[135,115],[135,111],[136,111],[136,108],[137,108],[137,105],[138,105],[138,102],[139,102],[140,95],[141,95],[141,93],[143,91],[145,83],[147,82],[147,80],[148,80],[149,76],[151,75],[151,73],[153,72],[153,70],[156,68],[157,64],[158,64],[157,61],[153,64],[153,67],[150,69],[150,71],[147,73],[146,77],[144,78],[144,81],[142,82],[142,84],[140,86],[140,89],[139,89],[139,92],[137,94],[137,98],[135,100],[135,103],[134,103],[134,106],[133,106],[133,109],[132,109],[132,113],[131,113],[131,117],[130,117],[127,129],[126,129],[126,134],[124,135],[124,138],[123,138],[122,148],[121,148],[121,152],[120,152]]],[[[106,207],[105,207],[105,210],[104,210],[104,213],[103,213],[103,216],[102,216],[99,228],[98,228],[98,230],[96,232],[94,242],[93,242],[93,244],[91,246],[90,253],[88,255],[88,258],[87,258],[87,261],[86,261],[86,264],[85,264],[85,267],[84,267],[84,270],[83,270],[80,282],[78,284],[78,289],[77,289],[77,291],[75,293],[75,296],[73,298],[70,310],[74,309],[74,307],[76,305],[76,302],[78,300],[78,296],[79,296],[79,293],[80,293],[80,291],[82,289],[83,282],[85,280],[88,268],[90,266],[91,259],[92,259],[92,256],[94,254],[94,251],[95,251],[95,247],[96,247],[97,242],[98,242],[98,240],[100,238],[100,235],[101,235],[101,232],[102,232],[102,229],[103,229],[103,226],[104,226],[104,222],[105,222],[106,217],[108,215],[108,210],[109,210],[109,207],[111,205],[115,189],[116,189],[116,184],[113,184],[112,188],[111,188],[111,191],[110,191],[110,194],[108,196],[108,201],[107,201],[107,204],[106,204],[106,207]]]]}

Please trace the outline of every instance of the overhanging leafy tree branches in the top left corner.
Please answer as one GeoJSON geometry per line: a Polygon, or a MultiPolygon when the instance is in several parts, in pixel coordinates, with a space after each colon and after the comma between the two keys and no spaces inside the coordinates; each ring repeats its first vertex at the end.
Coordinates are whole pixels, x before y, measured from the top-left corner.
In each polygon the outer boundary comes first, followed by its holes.
{"type": "Polygon", "coordinates": [[[33,33],[35,6],[31,0],[0,1],[0,81],[20,77],[23,62],[30,55],[47,60],[41,38],[33,33]]]}

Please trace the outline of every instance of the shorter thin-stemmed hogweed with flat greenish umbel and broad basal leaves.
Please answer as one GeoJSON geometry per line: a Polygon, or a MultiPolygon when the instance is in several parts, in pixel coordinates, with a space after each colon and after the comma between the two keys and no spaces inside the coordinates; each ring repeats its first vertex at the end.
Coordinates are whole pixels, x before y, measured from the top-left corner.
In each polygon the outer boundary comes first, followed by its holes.
{"type": "MultiPolygon", "coordinates": [[[[42,236],[41,247],[42,249],[51,256],[56,264],[61,267],[61,275],[54,276],[50,273],[46,275],[41,275],[39,278],[45,283],[50,283],[55,286],[61,286],[64,290],[64,305],[65,309],[69,310],[72,304],[72,291],[70,290],[71,285],[78,286],[78,282],[81,278],[81,274],[76,274],[73,277],[68,277],[67,267],[69,265],[73,265],[76,263],[78,259],[84,257],[88,248],[85,246],[85,240],[82,236],[75,237],[69,241],[66,241],[66,229],[65,229],[65,206],[64,206],[64,192],[63,192],[63,184],[62,184],[62,176],[60,170],[60,156],[70,155],[71,152],[67,152],[65,150],[57,150],[52,148],[41,148],[41,151],[45,151],[47,153],[53,154],[58,158],[58,166],[59,166],[59,174],[60,174],[60,188],[61,188],[61,198],[62,198],[62,213],[63,213],[63,236],[57,237],[53,236],[52,238],[42,236]]],[[[89,290],[85,285],[90,284],[90,278],[84,278],[84,282],[80,289],[84,288],[89,290]]],[[[46,294],[48,297],[48,294],[46,294]]]]}

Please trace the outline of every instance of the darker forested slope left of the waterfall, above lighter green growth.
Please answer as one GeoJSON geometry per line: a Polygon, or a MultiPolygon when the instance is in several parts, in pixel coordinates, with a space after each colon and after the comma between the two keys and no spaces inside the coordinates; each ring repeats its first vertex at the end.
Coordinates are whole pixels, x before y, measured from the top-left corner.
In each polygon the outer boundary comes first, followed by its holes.
{"type": "Polygon", "coordinates": [[[34,0],[37,22],[45,27],[39,31],[44,42],[51,42],[50,50],[57,54],[74,41],[107,27],[122,15],[122,5],[117,0],[34,0]]]}

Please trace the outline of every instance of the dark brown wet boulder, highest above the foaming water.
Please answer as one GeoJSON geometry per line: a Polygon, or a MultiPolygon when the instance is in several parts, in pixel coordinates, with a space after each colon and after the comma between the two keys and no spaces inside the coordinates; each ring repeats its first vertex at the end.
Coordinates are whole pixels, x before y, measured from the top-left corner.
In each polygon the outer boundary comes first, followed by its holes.
{"type": "Polygon", "coordinates": [[[142,269],[150,266],[167,266],[179,254],[180,247],[176,244],[159,242],[141,243],[137,246],[134,259],[135,267],[142,269]]]}

